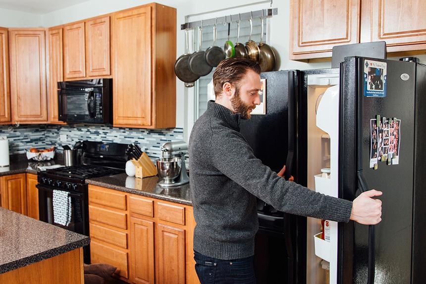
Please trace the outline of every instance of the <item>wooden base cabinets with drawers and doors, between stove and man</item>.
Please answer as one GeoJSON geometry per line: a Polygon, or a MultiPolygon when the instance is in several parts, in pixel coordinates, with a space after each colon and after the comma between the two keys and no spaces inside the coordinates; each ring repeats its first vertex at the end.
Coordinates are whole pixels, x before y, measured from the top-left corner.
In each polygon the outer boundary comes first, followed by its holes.
{"type": "Polygon", "coordinates": [[[89,225],[92,263],[117,266],[120,280],[134,284],[199,283],[191,206],[90,184],[89,225]],[[126,228],[119,217],[122,214],[129,224],[126,228]]]}

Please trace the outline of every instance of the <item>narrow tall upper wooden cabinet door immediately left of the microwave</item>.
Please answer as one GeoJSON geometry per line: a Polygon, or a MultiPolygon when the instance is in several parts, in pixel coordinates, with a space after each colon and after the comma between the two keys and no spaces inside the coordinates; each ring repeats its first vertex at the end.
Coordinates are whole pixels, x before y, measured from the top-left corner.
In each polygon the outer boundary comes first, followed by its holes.
{"type": "Polygon", "coordinates": [[[63,81],[63,53],[62,53],[62,28],[50,29],[49,41],[49,120],[51,123],[63,123],[59,121],[57,105],[57,82],[63,81]]]}

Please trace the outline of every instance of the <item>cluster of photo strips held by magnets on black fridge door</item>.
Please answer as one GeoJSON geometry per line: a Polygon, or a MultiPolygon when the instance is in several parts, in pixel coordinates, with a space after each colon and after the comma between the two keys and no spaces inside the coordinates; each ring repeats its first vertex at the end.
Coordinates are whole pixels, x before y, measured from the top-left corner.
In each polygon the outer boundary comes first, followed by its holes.
{"type": "Polygon", "coordinates": [[[370,119],[370,141],[370,168],[377,170],[378,162],[398,165],[401,119],[386,119],[380,115],[377,115],[375,119],[370,119]]]}

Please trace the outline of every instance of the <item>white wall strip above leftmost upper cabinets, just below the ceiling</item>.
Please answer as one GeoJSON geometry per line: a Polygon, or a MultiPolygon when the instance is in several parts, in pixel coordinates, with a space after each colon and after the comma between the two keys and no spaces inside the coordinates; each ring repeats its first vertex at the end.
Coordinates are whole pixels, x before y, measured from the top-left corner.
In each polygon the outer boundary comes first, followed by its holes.
{"type": "Polygon", "coordinates": [[[42,15],[0,8],[0,27],[42,27],[42,15]]]}

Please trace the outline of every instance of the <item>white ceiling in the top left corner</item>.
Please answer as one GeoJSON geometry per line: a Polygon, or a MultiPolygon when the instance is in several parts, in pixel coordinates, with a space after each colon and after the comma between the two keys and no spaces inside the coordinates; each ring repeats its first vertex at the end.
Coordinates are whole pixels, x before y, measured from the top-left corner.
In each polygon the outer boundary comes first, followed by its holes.
{"type": "Polygon", "coordinates": [[[0,0],[0,8],[45,14],[88,0],[0,0]]]}

